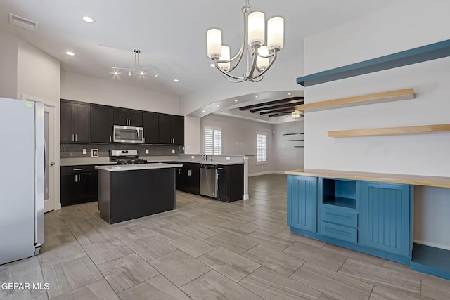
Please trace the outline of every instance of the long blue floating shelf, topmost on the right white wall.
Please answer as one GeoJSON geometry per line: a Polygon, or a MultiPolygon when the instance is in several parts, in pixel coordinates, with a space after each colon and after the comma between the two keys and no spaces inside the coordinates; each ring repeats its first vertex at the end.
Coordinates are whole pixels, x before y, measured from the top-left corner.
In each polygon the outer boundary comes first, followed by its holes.
{"type": "Polygon", "coordinates": [[[450,39],[371,60],[364,60],[360,63],[298,77],[297,84],[314,86],[316,84],[383,71],[394,67],[402,67],[404,65],[412,65],[414,63],[422,63],[427,60],[435,60],[446,56],[450,56],[450,39]]]}

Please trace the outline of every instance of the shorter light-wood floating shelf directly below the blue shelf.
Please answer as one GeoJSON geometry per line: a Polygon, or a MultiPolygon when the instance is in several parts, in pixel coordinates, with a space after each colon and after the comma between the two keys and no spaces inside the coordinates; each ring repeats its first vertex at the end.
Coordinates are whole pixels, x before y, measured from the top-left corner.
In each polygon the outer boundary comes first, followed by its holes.
{"type": "Polygon", "coordinates": [[[374,103],[385,103],[390,101],[407,100],[414,98],[414,89],[402,89],[397,91],[385,91],[382,93],[370,93],[367,95],[340,98],[316,103],[297,105],[297,110],[305,112],[315,112],[318,110],[333,110],[336,108],[350,107],[357,105],[368,105],[374,103]]]}

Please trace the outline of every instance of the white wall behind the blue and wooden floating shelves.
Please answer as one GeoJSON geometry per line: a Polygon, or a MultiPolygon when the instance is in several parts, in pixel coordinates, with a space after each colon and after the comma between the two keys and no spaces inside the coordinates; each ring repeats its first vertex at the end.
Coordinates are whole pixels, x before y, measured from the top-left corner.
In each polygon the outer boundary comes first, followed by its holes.
{"type": "MultiPolygon", "coordinates": [[[[450,39],[449,11],[446,0],[405,1],[309,37],[305,74],[450,39]]],[[[450,176],[450,133],[327,137],[327,131],[335,130],[450,123],[449,70],[450,58],[441,58],[305,89],[305,103],[411,87],[416,91],[413,100],[307,113],[305,167],[450,176]]],[[[416,188],[414,238],[450,249],[450,191],[435,189],[416,188]]]]}

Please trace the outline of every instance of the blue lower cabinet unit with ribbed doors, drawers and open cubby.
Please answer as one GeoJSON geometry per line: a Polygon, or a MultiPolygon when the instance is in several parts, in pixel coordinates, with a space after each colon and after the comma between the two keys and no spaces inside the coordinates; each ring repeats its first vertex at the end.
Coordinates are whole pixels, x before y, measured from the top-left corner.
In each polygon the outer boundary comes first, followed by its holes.
{"type": "Polygon", "coordinates": [[[288,176],[288,226],[356,251],[411,263],[411,185],[288,176]]]}

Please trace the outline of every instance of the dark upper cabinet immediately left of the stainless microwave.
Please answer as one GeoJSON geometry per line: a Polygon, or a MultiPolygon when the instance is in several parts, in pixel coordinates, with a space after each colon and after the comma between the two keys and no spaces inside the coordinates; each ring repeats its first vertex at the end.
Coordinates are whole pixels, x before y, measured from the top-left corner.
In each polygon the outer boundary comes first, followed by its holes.
{"type": "Polygon", "coordinates": [[[91,105],[91,142],[110,143],[113,141],[113,107],[91,105]]]}

